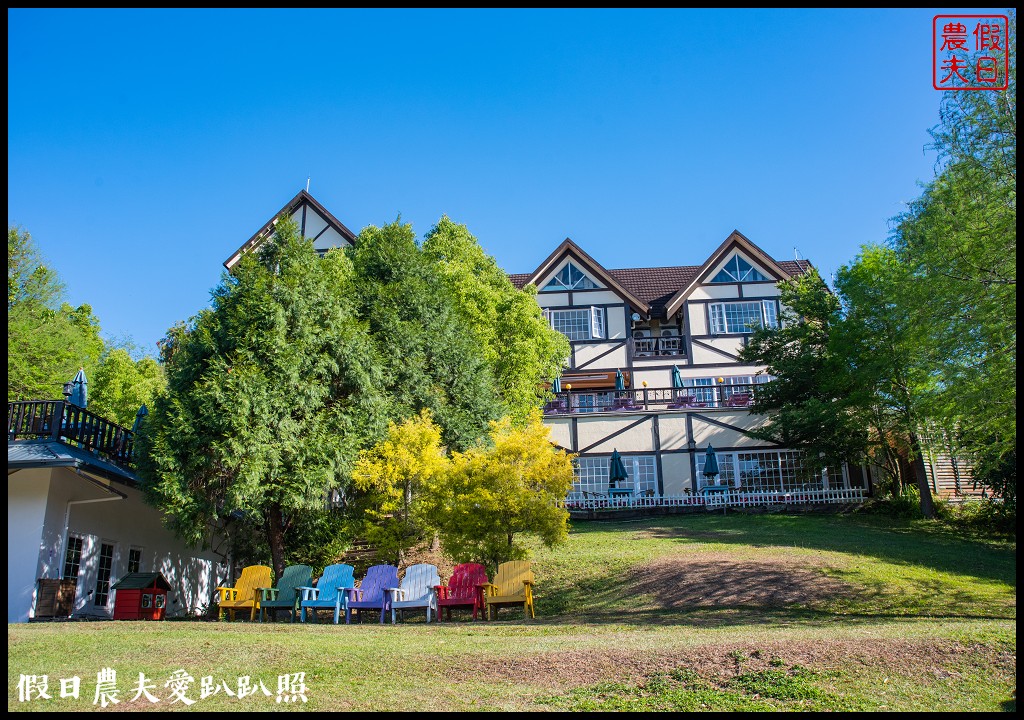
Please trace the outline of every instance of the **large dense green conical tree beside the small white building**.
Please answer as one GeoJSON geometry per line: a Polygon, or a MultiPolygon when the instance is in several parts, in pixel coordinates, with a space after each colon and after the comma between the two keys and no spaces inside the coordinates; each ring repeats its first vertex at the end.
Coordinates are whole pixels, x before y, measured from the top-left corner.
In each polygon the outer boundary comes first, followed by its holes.
{"type": "Polygon", "coordinates": [[[162,344],[168,389],[141,433],[145,488],[194,543],[242,513],[274,569],[307,513],[382,430],[380,363],[347,255],[317,256],[292,222],[245,255],[213,306],[162,344]]]}

